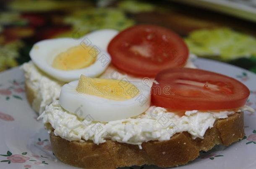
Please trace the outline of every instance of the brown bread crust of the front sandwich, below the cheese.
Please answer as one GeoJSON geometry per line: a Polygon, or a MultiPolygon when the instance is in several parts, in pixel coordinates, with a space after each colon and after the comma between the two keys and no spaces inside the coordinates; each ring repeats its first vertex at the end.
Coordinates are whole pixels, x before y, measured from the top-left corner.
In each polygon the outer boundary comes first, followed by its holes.
{"type": "Polygon", "coordinates": [[[50,140],[55,156],[63,163],[86,169],[116,169],[144,164],[160,167],[187,164],[199,156],[199,151],[208,151],[219,144],[228,146],[243,136],[243,112],[240,112],[216,120],[204,139],[192,139],[188,132],[183,132],[168,141],[144,142],[143,149],[111,140],[99,145],[92,141],[67,141],[53,133],[50,140]]]}

